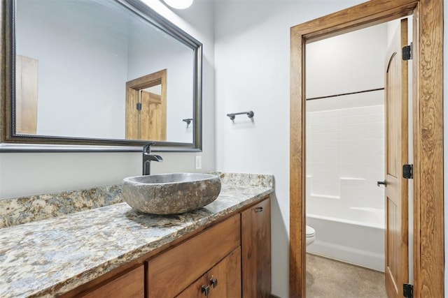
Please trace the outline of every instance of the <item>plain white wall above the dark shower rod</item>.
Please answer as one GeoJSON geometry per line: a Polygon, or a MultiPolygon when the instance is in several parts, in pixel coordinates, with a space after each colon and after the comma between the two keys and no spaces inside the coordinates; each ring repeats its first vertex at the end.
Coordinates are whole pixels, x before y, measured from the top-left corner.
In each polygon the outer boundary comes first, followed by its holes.
{"type": "Polygon", "coordinates": [[[386,40],[379,24],[307,44],[307,98],[384,87],[386,40]]]}

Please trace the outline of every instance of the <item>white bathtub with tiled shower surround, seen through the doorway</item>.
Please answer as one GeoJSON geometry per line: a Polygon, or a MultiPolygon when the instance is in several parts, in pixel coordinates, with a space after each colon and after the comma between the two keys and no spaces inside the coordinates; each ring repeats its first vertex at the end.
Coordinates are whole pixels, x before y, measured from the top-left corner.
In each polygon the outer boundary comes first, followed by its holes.
{"type": "Polygon", "coordinates": [[[384,271],[383,179],[384,105],[308,110],[307,252],[384,271]]]}

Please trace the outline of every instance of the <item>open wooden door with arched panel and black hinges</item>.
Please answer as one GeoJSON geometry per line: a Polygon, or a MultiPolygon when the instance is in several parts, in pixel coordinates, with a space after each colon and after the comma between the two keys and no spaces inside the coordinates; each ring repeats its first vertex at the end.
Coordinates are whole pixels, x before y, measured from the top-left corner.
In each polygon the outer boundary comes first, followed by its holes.
{"type": "Polygon", "coordinates": [[[402,178],[407,163],[407,19],[400,21],[386,56],[386,291],[402,297],[408,281],[408,190],[402,178]]]}

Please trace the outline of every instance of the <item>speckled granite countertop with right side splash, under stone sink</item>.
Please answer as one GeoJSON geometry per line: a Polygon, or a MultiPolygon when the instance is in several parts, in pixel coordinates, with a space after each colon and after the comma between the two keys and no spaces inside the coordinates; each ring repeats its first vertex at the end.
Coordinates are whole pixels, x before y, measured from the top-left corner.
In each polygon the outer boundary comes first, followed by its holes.
{"type": "Polygon", "coordinates": [[[221,174],[211,204],[174,216],[126,203],[0,230],[0,297],[52,297],[87,283],[274,191],[270,175],[221,174]]]}

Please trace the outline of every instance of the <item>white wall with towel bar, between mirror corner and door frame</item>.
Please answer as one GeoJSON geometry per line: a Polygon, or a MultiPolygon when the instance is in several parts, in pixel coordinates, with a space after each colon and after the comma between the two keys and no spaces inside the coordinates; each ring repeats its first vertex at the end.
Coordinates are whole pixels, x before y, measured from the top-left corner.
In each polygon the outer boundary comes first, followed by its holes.
{"type": "Polygon", "coordinates": [[[275,176],[272,292],[280,297],[288,297],[290,27],[361,2],[216,2],[216,168],[275,176]],[[225,116],[247,110],[253,122],[225,116]]]}

